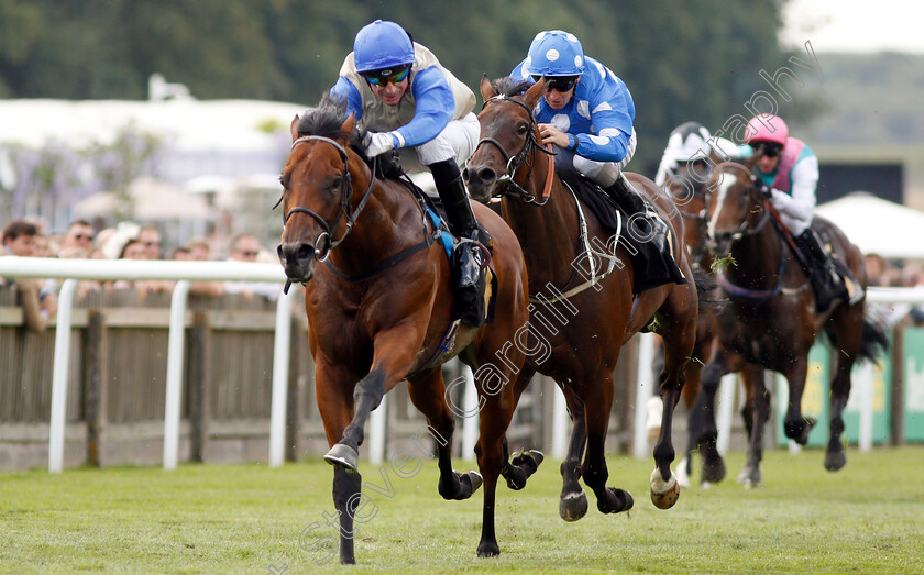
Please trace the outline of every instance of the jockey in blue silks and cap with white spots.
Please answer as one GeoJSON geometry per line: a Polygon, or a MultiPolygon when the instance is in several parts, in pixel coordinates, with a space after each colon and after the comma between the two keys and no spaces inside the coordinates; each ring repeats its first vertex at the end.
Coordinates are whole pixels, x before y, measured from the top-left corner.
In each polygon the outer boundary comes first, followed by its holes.
{"type": "Polygon", "coordinates": [[[625,82],[584,56],[581,42],[561,30],[538,33],[510,76],[527,81],[546,78],[546,92],[534,115],[542,143],[558,147],[556,169],[576,172],[598,185],[642,224],[640,239],[663,246],[667,224],[620,174],[636,150],[635,103],[625,82]]]}

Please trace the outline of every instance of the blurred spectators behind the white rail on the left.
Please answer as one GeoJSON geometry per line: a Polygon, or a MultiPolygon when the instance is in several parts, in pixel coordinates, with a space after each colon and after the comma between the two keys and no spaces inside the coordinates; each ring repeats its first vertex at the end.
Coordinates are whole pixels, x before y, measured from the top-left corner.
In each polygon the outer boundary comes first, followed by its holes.
{"type": "MultiPolygon", "coordinates": [[[[166,248],[157,225],[128,221],[97,230],[86,220],[76,220],[63,232],[54,233],[40,220],[13,220],[3,226],[2,244],[0,257],[276,262],[276,257],[250,233],[233,237],[198,237],[185,245],[166,248]]],[[[82,280],[77,286],[77,298],[96,290],[133,289],[143,299],[151,294],[169,292],[174,285],[174,281],[161,280],[82,280]]],[[[35,332],[43,331],[57,312],[59,287],[59,280],[0,277],[0,290],[15,291],[16,302],[23,308],[23,323],[35,332]]],[[[279,290],[278,285],[258,281],[194,281],[189,288],[190,294],[202,296],[242,294],[246,298],[270,300],[275,300],[279,290]]]]}

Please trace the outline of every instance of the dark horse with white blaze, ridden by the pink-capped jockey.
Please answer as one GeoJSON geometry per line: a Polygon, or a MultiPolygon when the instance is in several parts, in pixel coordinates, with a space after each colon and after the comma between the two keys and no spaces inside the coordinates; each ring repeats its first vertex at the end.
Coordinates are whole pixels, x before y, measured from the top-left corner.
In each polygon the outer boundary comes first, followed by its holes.
{"type": "MultiPolygon", "coordinates": [[[[719,378],[725,374],[743,369],[757,373],[758,368],[779,372],[789,384],[783,420],[785,435],[804,445],[816,423],[802,414],[809,350],[824,332],[832,349],[837,350],[831,380],[831,436],[824,465],[828,471],[840,469],[847,463],[842,414],[850,394],[850,369],[857,360],[875,361],[887,349],[886,333],[867,316],[865,299],[854,305],[840,302],[825,313],[816,312],[810,278],[782,233],[782,224],[777,224],[772,204],[760,195],[751,165],[721,164],[707,203],[711,250],[716,257],[730,257],[730,263],[718,278],[729,303],[728,310],[718,317],[717,345],[702,373],[705,403],[714,403],[719,378]]],[[[866,290],[864,257],[857,246],[827,220],[816,217],[812,226],[866,290]]],[[[739,480],[759,485],[770,400],[762,378],[754,379],[751,385],[760,388],[751,390],[756,401],[750,417],[745,417],[749,422],[750,445],[739,480]]],[[[714,442],[713,411],[708,409],[704,413],[704,434],[714,442]]]]}

